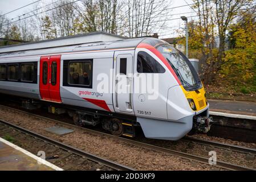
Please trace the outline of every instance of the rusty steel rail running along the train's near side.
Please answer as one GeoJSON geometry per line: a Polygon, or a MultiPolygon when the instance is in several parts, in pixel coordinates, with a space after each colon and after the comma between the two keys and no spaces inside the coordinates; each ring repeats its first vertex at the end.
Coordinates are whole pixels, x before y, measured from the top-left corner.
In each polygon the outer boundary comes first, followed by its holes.
{"type": "MultiPolygon", "coordinates": [[[[168,154],[172,154],[172,155],[176,155],[176,156],[180,156],[181,158],[184,158],[184,159],[188,159],[188,160],[195,160],[197,162],[201,162],[201,163],[204,163],[204,164],[208,164],[209,165],[209,159],[208,158],[204,158],[202,156],[197,156],[197,155],[193,155],[193,154],[188,154],[188,153],[185,153],[185,152],[180,152],[180,151],[176,151],[176,150],[171,150],[169,148],[164,148],[164,147],[159,147],[159,146],[155,146],[155,145],[152,145],[152,144],[148,144],[148,143],[143,143],[143,142],[138,142],[136,140],[131,140],[131,139],[127,139],[127,138],[121,138],[121,137],[116,137],[114,135],[111,135],[111,134],[106,134],[106,133],[102,133],[100,131],[96,131],[96,130],[91,130],[91,129],[87,129],[87,128],[84,128],[84,127],[80,127],[80,126],[76,126],[76,125],[72,125],[70,123],[65,123],[65,122],[62,122],[62,121],[58,121],[56,119],[51,119],[51,118],[47,118],[47,117],[43,117],[42,115],[37,115],[37,114],[32,114],[32,113],[29,113],[27,111],[23,111],[23,110],[19,110],[19,109],[14,109],[12,107],[9,107],[9,106],[2,106],[0,105],[0,107],[6,107],[6,109],[12,109],[12,110],[15,110],[19,113],[22,113],[22,114],[27,114],[27,115],[31,115],[35,118],[38,118],[38,119],[46,119],[48,121],[52,121],[52,122],[58,122],[58,123],[62,123],[63,125],[66,125],[66,126],[70,126],[70,127],[73,127],[73,128],[76,128],[76,129],[82,129],[82,130],[85,130],[89,133],[95,133],[95,134],[100,134],[100,135],[105,135],[105,136],[108,136],[108,137],[112,137],[112,138],[116,138],[116,139],[120,139],[124,142],[127,142],[127,143],[130,143],[130,144],[134,144],[136,146],[140,146],[140,147],[144,147],[144,148],[148,148],[150,150],[154,150],[154,151],[161,151],[161,152],[166,152],[168,154]]],[[[209,141],[209,143],[211,143],[210,145],[213,146],[213,143],[209,141]]],[[[208,143],[208,144],[209,144],[208,143]]],[[[206,144],[206,142],[205,142],[206,144]]],[[[225,146],[226,144],[223,144],[223,146],[225,146]]],[[[229,145],[230,146],[230,145],[229,145]]],[[[238,147],[238,146],[233,146],[234,148],[238,147]]],[[[250,148],[247,148],[247,150],[251,150],[250,148]]],[[[238,166],[236,164],[231,164],[231,163],[226,163],[226,162],[221,162],[221,161],[217,161],[217,164],[216,165],[213,165],[214,167],[218,167],[218,168],[224,168],[224,169],[229,169],[229,170],[238,170],[238,171],[255,171],[256,169],[253,169],[253,168],[247,168],[247,167],[243,167],[243,166],[238,166]]]]}

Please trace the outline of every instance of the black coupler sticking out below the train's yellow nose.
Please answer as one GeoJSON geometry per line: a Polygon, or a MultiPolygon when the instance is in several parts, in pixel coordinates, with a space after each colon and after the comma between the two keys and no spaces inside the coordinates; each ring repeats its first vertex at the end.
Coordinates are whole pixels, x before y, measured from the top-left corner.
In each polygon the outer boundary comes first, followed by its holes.
{"type": "Polygon", "coordinates": [[[193,128],[202,133],[208,133],[213,122],[212,117],[196,117],[193,121],[193,128]]]}

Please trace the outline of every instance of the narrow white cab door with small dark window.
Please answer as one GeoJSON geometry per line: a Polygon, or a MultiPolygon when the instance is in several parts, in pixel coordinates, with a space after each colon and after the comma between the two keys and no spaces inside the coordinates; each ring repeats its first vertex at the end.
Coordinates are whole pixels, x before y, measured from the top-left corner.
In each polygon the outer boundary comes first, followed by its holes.
{"type": "Polygon", "coordinates": [[[134,114],[132,105],[133,56],[116,54],[114,61],[113,104],[119,113],[134,114]]]}

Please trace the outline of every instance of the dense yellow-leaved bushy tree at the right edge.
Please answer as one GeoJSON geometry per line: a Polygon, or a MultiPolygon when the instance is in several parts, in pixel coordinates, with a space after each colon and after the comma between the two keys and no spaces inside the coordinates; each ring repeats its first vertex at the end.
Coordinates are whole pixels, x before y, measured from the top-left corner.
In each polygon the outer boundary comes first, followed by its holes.
{"type": "Polygon", "coordinates": [[[255,15],[244,13],[230,26],[230,49],[225,51],[218,80],[234,85],[243,93],[256,92],[256,22],[255,15]]]}

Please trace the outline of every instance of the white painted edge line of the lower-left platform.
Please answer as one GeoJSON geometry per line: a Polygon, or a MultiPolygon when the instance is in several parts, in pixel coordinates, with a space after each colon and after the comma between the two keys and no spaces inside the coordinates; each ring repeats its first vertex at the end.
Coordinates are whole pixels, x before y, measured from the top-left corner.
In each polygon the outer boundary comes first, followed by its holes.
{"type": "Polygon", "coordinates": [[[50,167],[50,168],[52,168],[52,169],[54,169],[54,170],[56,170],[56,171],[63,171],[62,168],[59,168],[58,166],[55,166],[54,164],[49,163],[48,161],[46,161],[46,160],[44,160],[44,159],[42,159],[42,158],[39,158],[38,156],[32,154],[31,152],[26,151],[26,150],[24,150],[23,148],[18,147],[18,146],[16,146],[15,144],[13,144],[13,143],[11,143],[11,142],[8,142],[7,140],[5,140],[5,139],[3,139],[3,138],[1,138],[1,137],[0,137],[0,142],[3,142],[3,143],[5,143],[5,144],[9,145],[10,147],[15,148],[15,150],[21,151],[23,154],[26,154],[27,156],[30,156],[30,158],[35,159],[36,161],[38,161],[38,162],[44,164],[45,166],[48,166],[48,167],[50,167]]]}

